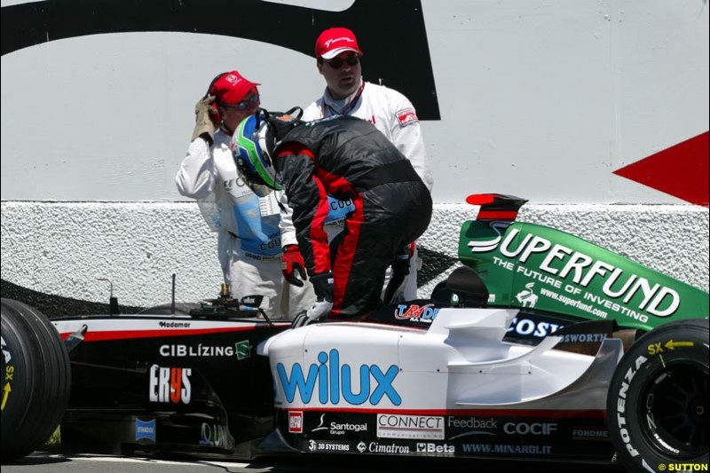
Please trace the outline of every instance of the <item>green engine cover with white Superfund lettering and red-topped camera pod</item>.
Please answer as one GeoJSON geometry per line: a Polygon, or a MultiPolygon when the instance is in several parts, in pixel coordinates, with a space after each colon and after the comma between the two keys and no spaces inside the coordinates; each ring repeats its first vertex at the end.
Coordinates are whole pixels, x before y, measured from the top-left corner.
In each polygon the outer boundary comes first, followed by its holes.
{"type": "Polygon", "coordinates": [[[708,316],[706,292],[542,225],[516,222],[517,197],[475,195],[477,220],[461,227],[459,258],[489,292],[488,306],[616,320],[651,330],[708,316]]]}

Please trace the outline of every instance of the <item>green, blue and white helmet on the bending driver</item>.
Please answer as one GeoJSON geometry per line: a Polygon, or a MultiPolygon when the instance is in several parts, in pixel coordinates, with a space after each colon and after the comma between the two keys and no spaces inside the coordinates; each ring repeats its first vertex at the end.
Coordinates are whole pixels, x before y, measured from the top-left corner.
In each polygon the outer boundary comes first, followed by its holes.
{"type": "Polygon", "coordinates": [[[276,169],[271,156],[273,147],[273,133],[264,120],[264,111],[245,118],[232,137],[232,154],[237,171],[259,197],[283,188],[276,182],[276,169]]]}

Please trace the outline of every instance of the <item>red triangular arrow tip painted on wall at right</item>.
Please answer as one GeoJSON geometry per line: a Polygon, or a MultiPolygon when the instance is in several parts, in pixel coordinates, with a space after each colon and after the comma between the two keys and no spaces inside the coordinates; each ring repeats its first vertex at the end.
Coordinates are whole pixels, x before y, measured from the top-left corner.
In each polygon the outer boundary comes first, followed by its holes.
{"type": "Polygon", "coordinates": [[[708,133],[702,133],[641,161],[617,169],[614,174],[648,185],[696,205],[708,207],[708,133]]]}

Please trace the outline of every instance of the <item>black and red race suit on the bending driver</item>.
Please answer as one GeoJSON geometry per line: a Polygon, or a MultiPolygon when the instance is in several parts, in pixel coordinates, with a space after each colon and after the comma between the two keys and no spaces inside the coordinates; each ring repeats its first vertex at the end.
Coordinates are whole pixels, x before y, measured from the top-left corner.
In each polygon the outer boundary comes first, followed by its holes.
{"type": "Polygon", "coordinates": [[[429,225],[427,186],[379,130],[350,116],[296,126],[274,155],[309,277],[333,272],[330,318],[372,311],[387,267],[429,225]],[[328,194],[355,206],[330,245],[328,194]]]}

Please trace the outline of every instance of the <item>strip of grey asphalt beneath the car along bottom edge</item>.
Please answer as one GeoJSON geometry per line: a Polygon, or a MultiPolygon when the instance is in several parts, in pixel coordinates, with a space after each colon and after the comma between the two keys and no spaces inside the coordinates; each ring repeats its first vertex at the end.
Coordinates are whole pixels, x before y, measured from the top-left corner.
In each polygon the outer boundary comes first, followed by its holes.
{"type": "Polygon", "coordinates": [[[478,461],[471,459],[434,459],[406,457],[367,457],[351,455],[263,459],[257,462],[180,460],[98,455],[61,455],[32,453],[3,465],[3,473],[389,473],[427,471],[430,473],[509,472],[511,470],[546,473],[624,473],[610,465],[560,464],[533,461],[478,461]],[[356,461],[357,458],[357,461],[356,461]]]}

